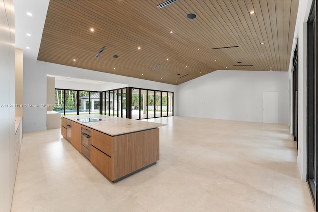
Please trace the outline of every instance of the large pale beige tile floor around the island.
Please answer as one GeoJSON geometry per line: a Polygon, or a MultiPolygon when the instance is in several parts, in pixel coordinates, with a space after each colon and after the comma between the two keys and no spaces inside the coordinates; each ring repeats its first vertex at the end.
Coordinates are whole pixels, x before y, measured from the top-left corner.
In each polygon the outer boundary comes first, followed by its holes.
{"type": "Polygon", "coordinates": [[[12,211],[314,211],[286,125],[189,117],[160,127],[156,165],[112,183],[60,130],[24,133],[12,211]]]}

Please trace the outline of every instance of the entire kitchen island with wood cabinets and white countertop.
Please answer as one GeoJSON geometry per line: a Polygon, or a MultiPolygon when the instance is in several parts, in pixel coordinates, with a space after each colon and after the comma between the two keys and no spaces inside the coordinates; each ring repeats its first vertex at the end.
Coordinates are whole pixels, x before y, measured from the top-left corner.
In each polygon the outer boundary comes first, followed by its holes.
{"type": "Polygon", "coordinates": [[[159,126],[165,124],[105,116],[61,118],[61,134],[113,182],[159,160],[159,126]]]}

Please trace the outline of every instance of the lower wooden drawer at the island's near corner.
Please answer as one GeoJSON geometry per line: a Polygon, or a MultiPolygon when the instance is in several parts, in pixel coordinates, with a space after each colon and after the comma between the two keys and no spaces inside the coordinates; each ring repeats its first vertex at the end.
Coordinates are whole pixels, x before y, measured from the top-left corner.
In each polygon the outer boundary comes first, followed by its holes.
{"type": "Polygon", "coordinates": [[[90,162],[111,181],[114,180],[112,174],[113,167],[111,158],[93,146],[90,147],[90,162]]]}

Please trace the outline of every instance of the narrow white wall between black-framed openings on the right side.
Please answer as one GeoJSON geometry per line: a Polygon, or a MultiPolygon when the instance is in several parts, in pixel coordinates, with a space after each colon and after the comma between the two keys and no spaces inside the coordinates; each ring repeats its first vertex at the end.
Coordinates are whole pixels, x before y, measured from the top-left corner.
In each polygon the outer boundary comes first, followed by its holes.
{"type": "MultiPolygon", "coordinates": [[[[307,26],[306,25],[307,24],[306,23],[308,20],[311,4],[312,4],[312,0],[299,1],[291,61],[289,64],[289,76],[290,76],[290,79],[292,79],[291,77],[292,75],[291,71],[293,68],[292,60],[293,60],[294,50],[295,50],[295,46],[296,46],[297,38],[298,38],[298,155],[297,155],[297,163],[298,163],[299,171],[303,181],[306,181],[306,173],[307,173],[307,153],[306,153],[306,150],[307,150],[307,145],[306,145],[307,26]]],[[[292,87],[291,87],[291,91],[292,91],[292,87]]],[[[292,103],[292,96],[291,96],[291,103],[292,103]]],[[[290,119],[292,120],[292,114],[290,114],[290,119]]]]}

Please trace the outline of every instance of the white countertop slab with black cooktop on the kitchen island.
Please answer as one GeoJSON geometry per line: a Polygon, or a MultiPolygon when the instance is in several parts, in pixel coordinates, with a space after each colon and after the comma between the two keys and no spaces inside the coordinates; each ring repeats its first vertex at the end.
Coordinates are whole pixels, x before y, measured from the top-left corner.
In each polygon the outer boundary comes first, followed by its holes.
{"type": "Polygon", "coordinates": [[[66,115],[63,118],[77,122],[89,128],[103,132],[110,136],[117,136],[122,134],[128,134],[132,132],[144,131],[154,129],[159,126],[165,126],[166,124],[152,123],[141,120],[132,120],[128,118],[120,118],[106,115],[66,115]],[[102,121],[96,122],[80,122],[77,119],[80,118],[97,118],[102,121]]]}

